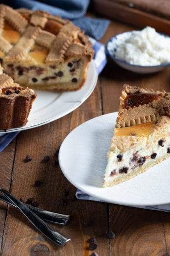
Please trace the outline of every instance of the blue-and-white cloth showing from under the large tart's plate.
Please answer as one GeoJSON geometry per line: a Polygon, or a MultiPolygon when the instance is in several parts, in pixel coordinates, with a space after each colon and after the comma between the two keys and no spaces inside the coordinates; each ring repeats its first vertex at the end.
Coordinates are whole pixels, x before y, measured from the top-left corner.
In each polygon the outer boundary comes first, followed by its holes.
{"type": "MultiPolygon", "coordinates": [[[[96,64],[96,68],[98,70],[98,74],[102,71],[107,63],[107,58],[105,55],[105,46],[104,44],[99,43],[94,38],[90,38],[93,48],[95,51],[94,54],[94,62],[96,64]]],[[[0,137],[0,152],[3,151],[4,148],[8,146],[8,144],[17,136],[17,132],[6,133],[5,135],[0,137]]]]}

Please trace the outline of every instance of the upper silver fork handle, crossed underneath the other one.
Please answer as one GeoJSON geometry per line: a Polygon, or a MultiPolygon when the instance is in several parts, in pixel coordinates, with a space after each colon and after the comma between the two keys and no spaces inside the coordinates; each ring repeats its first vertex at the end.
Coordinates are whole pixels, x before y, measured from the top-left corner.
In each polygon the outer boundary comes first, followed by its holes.
{"type": "MultiPolygon", "coordinates": [[[[15,204],[13,204],[6,196],[0,195],[0,200],[6,202],[7,204],[11,204],[14,207],[17,207],[15,204]]],[[[40,209],[37,207],[33,207],[29,204],[26,204],[26,206],[31,209],[37,216],[42,218],[45,221],[50,221],[56,224],[65,225],[70,217],[70,215],[66,214],[59,214],[56,212],[49,212],[44,209],[40,209]]]]}

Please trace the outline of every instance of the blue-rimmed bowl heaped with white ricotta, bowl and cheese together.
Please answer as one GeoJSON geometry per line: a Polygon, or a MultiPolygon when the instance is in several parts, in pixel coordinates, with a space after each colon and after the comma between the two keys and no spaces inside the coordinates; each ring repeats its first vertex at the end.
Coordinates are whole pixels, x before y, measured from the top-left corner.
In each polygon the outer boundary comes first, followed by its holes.
{"type": "Polygon", "coordinates": [[[170,65],[170,37],[149,26],[114,36],[106,49],[117,64],[134,72],[152,73],[170,65]]]}

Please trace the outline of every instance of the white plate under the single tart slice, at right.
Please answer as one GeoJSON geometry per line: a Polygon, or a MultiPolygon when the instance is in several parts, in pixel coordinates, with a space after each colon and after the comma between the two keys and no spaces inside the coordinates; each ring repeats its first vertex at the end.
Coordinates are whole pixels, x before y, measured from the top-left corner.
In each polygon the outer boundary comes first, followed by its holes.
{"type": "Polygon", "coordinates": [[[135,178],[102,188],[107,151],[117,112],[79,125],[63,141],[59,165],[78,189],[103,201],[128,206],[170,203],[170,157],[135,178]]]}

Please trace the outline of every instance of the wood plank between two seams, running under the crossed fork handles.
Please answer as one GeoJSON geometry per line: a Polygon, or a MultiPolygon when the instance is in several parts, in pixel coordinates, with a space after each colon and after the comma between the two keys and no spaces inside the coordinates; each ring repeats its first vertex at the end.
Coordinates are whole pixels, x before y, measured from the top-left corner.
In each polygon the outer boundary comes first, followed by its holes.
{"type": "Polygon", "coordinates": [[[93,236],[98,242],[96,252],[108,255],[109,241],[105,236],[108,230],[108,204],[72,201],[76,188],[62,175],[59,166],[51,165],[51,161],[55,159],[54,154],[66,135],[82,122],[101,113],[98,83],[90,98],[74,112],[48,125],[19,134],[11,192],[25,201],[34,197],[44,209],[71,214],[71,219],[65,227],[52,226],[72,240],[64,247],[58,247],[47,241],[17,210],[10,207],[6,218],[2,255],[88,256],[92,251],[87,249],[87,239],[93,236]],[[32,160],[24,163],[27,154],[32,160]],[[41,163],[45,155],[51,160],[48,163],[41,163]],[[42,180],[42,186],[35,188],[35,180],[42,180]],[[69,192],[68,197],[63,195],[65,189],[69,192]],[[66,206],[61,205],[61,199],[67,201],[66,206]],[[85,219],[91,221],[90,227],[82,227],[82,221],[85,219]]]}

